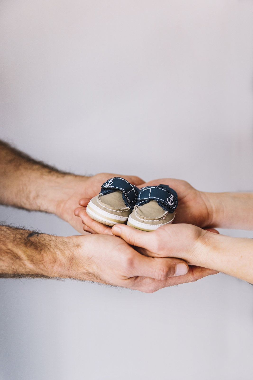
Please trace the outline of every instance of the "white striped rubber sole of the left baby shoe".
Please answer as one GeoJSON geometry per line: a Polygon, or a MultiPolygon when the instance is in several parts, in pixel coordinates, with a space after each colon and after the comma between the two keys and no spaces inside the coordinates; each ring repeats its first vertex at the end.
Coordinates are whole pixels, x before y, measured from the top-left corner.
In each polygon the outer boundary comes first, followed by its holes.
{"type": "Polygon", "coordinates": [[[114,226],[115,224],[123,224],[127,221],[128,217],[121,216],[121,215],[115,215],[110,214],[110,212],[104,211],[96,206],[90,200],[88,203],[88,206],[86,207],[86,212],[93,220],[96,220],[97,222],[106,224],[107,226],[114,226]]]}

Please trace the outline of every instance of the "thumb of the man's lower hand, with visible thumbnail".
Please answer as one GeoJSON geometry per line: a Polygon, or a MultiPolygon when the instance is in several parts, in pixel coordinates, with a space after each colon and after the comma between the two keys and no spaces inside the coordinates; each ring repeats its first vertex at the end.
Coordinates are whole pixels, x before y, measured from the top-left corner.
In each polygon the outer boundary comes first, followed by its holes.
{"type": "Polygon", "coordinates": [[[188,272],[185,261],[176,258],[154,258],[138,255],[134,260],[133,274],[166,280],[168,277],[185,275],[188,272]]]}

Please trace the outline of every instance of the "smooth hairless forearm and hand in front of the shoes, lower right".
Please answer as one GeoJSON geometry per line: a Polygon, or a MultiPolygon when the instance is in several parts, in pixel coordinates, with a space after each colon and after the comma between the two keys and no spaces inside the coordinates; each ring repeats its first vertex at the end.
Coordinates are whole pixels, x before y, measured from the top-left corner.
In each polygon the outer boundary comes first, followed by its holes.
{"type": "Polygon", "coordinates": [[[144,232],[115,225],[112,233],[138,252],[152,257],[178,257],[189,265],[210,268],[253,283],[253,240],[229,237],[190,224],[171,224],[144,232]]]}

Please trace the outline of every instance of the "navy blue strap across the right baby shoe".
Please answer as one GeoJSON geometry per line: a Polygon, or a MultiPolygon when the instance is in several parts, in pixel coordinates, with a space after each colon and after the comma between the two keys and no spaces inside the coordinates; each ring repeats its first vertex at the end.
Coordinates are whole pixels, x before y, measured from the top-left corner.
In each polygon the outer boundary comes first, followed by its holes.
{"type": "Polygon", "coordinates": [[[137,206],[142,206],[151,200],[157,201],[164,211],[174,212],[178,206],[178,195],[168,185],[147,186],[140,189],[137,206]]]}

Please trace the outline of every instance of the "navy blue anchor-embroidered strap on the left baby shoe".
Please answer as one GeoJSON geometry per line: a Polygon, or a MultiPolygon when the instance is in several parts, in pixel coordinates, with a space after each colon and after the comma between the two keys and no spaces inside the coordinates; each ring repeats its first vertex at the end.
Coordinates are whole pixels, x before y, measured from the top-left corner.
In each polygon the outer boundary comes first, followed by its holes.
{"type": "Polygon", "coordinates": [[[139,189],[134,185],[130,184],[126,179],[121,177],[113,177],[108,179],[104,184],[102,184],[101,195],[106,195],[115,192],[116,190],[122,191],[122,198],[126,203],[127,207],[131,210],[134,209],[134,205],[137,202],[137,196],[139,189]]]}

